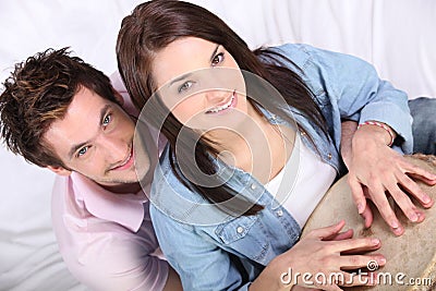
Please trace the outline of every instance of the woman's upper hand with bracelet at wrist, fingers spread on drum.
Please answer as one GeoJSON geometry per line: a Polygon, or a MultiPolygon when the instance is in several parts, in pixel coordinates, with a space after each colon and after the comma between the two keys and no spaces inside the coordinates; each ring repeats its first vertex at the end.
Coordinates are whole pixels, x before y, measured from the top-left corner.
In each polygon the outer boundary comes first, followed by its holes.
{"type": "Polygon", "coordinates": [[[368,198],[380,211],[392,232],[401,235],[404,229],[390,207],[386,192],[409,220],[421,222],[425,218],[424,213],[416,208],[411,196],[426,208],[431,207],[434,201],[410,177],[427,184],[435,184],[436,175],[410,163],[403,156],[391,149],[387,145],[390,136],[385,129],[370,124],[359,130],[355,128],[355,122],[354,125],[342,124],[346,136],[342,138],[344,143],[341,149],[349,169],[348,182],[354,203],[365,220],[365,227],[370,227],[373,222],[373,213],[366,203],[368,198]],[[353,126],[354,134],[352,134],[353,126]]]}

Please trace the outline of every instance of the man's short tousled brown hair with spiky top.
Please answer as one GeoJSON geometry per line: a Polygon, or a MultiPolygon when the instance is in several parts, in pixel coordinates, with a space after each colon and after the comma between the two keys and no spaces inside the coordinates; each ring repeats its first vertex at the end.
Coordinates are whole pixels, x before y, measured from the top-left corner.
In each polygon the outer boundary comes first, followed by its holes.
{"type": "Polygon", "coordinates": [[[47,49],[15,64],[0,95],[0,134],[15,155],[39,167],[65,167],[44,134],[63,119],[74,95],[86,87],[117,102],[110,80],[101,71],[71,57],[69,48],[47,49]]]}

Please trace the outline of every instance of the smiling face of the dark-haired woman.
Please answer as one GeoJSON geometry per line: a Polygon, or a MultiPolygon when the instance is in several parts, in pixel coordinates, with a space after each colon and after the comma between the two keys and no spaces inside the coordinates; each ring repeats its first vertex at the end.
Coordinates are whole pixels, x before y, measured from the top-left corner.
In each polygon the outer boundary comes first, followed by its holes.
{"type": "Polygon", "coordinates": [[[242,73],[220,45],[180,38],[156,54],[152,72],[164,104],[184,125],[208,131],[246,116],[242,73]]]}

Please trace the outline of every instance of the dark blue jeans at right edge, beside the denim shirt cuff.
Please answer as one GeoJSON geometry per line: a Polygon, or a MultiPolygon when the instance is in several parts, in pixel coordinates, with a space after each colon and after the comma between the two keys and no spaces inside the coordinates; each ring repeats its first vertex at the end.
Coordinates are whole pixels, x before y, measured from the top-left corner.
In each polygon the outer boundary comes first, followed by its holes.
{"type": "Polygon", "coordinates": [[[413,153],[436,155],[436,98],[409,100],[413,117],[413,153]]]}

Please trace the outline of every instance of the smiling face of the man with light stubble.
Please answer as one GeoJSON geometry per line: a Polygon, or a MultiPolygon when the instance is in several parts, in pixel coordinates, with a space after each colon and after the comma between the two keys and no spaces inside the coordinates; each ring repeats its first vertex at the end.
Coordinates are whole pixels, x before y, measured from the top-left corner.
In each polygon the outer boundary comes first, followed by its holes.
{"type": "MultiPolygon", "coordinates": [[[[134,121],[119,105],[82,87],[65,117],[50,125],[44,140],[68,168],[111,186],[138,181],[134,167],[134,121]]],[[[147,155],[143,156],[141,170],[146,173],[150,161],[147,155]]],[[[59,174],[70,173],[63,168],[48,168],[59,174]]]]}

